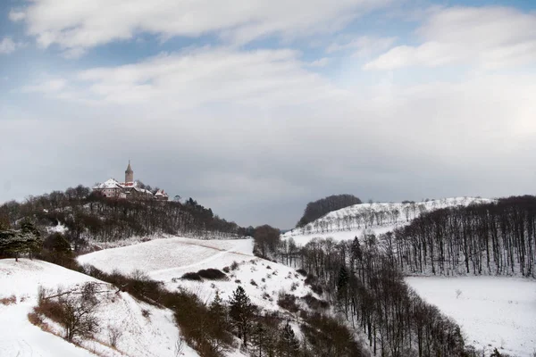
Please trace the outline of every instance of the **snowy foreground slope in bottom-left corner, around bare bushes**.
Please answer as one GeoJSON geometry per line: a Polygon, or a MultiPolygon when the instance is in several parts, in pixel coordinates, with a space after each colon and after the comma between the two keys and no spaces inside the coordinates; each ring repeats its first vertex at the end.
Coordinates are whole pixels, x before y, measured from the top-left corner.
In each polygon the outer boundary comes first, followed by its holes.
{"type": "MultiPolygon", "coordinates": [[[[101,329],[94,341],[82,341],[82,345],[102,356],[174,356],[174,346],[179,337],[179,329],[173,321],[172,311],[158,309],[146,303],[140,303],[126,293],[118,293],[116,288],[90,278],[84,274],[64,269],[63,267],[39,261],[21,259],[0,260],[0,298],[16,296],[17,303],[0,304],[0,354],[7,356],[92,356],[94,354],[71,345],[58,336],[42,331],[31,325],[27,315],[37,304],[38,286],[55,290],[62,286],[71,289],[85,282],[99,283],[99,305],[96,316],[101,329]],[[142,311],[150,312],[149,318],[142,311]],[[107,346],[109,328],[120,328],[122,335],[117,343],[117,350],[107,346]],[[4,354],[5,353],[5,354],[4,354]]],[[[56,333],[61,328],[51,325],[56,333]]],[[[184,355],[197,356],[197,353],[185,347],[184,355]]]]}

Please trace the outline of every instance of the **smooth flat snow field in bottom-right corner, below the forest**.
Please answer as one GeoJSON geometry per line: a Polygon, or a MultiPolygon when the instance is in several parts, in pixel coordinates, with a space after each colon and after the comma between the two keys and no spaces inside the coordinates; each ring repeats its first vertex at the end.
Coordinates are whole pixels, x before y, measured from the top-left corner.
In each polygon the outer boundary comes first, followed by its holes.
{"type": "Polygon", "coordinates": [[[532,357],[536,352],[536,281],[501,277],[411,277],[409,286],[460,325],[469,345],[532,357]],[[461,294],[457,296],[456,290],[461,294]]]}

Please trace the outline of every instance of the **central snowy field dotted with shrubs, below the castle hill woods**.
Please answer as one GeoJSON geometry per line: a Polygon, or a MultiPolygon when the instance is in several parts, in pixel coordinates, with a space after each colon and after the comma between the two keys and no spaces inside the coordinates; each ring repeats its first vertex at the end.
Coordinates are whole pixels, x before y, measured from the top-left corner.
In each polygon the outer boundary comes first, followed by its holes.
{"type": "Polygon", "coordinates": [[[280,310],[277,300],[283,291],[297,297],[311,294],[320,298],[305,285],[305,278],[293,268],[256,258],[251,239],[155,239],[138,245],[88,253],[78,259],[82,264],[90,264],[108,272],[120,270],[130,273],[141,270],[149,277],[163,281],[168,289],[187,288],[203,301],[211,301],[216,290],[226,300],[237,286],[244,287],[253,303],[271,311],[280,310]],[[238,264],[238,268],[230,270],[229,280],[226,281],[181,279],[187,272],[209,268],[222,270],[230,267],[233,262],[238,264]]]}

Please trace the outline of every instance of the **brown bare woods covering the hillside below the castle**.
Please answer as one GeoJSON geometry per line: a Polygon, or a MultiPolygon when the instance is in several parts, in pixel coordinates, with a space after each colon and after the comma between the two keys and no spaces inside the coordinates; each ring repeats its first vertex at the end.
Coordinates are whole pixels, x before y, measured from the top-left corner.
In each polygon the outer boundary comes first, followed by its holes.
{"type": "Polygon", "coordinates": [[[186,202],[121,200],[92,193],[88,187],[30,196],[0,205],[0,222],[19,227],[22,220],[43,228],[63,224],[64,237],[78,249],[88,241],[113,242],[155,234],[242,237],[246,228],[215,215],[192,198],[186,202]]]}

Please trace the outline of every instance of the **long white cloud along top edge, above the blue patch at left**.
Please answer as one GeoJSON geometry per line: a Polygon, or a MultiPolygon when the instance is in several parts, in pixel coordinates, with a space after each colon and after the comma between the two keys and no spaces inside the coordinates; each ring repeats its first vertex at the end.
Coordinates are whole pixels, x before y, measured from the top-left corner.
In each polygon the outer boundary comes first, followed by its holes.
{"type": "Polygon", "coordinates": [[[357,16],[391,0],[36,0],[24,10],[12,11],[12,21],[26,21],[28,33],[43,47],[57,44],[65,50],[88,49],[141,32],[162,38],[216,34],[233,44],[256,38],[303,37],[341,29],[357,16]],[[113,24],[113,26],[111,26],[113,24]]]}

